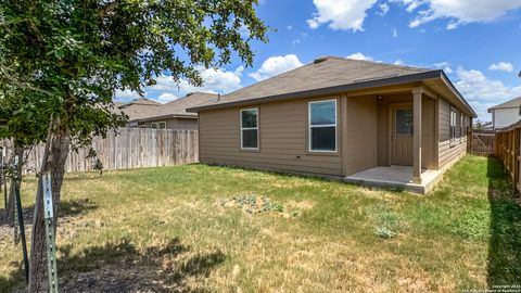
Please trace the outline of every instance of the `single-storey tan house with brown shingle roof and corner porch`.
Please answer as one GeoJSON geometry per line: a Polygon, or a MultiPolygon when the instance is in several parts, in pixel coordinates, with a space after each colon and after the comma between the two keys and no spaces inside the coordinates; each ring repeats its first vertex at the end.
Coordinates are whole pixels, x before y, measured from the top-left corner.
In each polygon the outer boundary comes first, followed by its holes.
{"type": "Polygon", "coordinates": [[[421,193],[466,154],[476,117],[443,71],[332,56],[189,111],[203,163],[421,193]]]}

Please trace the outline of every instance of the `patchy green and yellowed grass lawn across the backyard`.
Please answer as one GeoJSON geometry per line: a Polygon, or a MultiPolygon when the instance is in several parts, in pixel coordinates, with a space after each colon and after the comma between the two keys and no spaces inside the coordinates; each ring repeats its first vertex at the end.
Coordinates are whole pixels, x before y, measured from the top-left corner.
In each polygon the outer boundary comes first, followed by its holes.
{"type": "MultiPolygon", "coordinates": [[[[35,187],[34,177],[24,179],[26,207],[35,187]]],[[[67,175],[62,203],[63,292],[521,284],[521,205],[494,158],[465,157],[427,196],[188,165],[67,175]]],[[[21,263],[11,228],[0,226],[0,291],[23,283],[21,263]]]]}

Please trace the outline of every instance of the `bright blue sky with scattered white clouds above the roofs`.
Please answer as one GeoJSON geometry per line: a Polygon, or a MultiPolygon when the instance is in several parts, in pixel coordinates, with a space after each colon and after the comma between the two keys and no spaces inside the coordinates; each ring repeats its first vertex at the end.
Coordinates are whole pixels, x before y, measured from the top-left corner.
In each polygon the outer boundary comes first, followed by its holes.
{"type": "Polygon", "coordinates": [[[320,55],[442,68],[482,120],[491,119],[487,107],[521,95],[521,0],[262,0],[257,14],[274,31],[254,43],[253,67],[236,59],[201,68],[200,89],[162,76],[145,97],[227,93],[320,55]]]}

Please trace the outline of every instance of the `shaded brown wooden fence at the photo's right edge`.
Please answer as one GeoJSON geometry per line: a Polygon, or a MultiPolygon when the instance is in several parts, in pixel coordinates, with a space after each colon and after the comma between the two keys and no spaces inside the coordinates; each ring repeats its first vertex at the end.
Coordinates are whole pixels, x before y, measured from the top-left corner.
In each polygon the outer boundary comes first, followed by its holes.
{"type": "Polygon", "coordinates": [[[498,130],[496,133],[496,146],[497,157],[503,162],[503,166],[512,180],[514,189],[520,192],[521,125],[518,123],[498,130]]]}

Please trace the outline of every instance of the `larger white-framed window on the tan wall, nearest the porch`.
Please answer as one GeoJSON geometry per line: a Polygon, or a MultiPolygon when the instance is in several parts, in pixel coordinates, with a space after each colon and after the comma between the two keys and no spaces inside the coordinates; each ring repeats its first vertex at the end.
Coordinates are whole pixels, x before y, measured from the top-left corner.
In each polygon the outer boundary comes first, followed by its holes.
{"type": "Polygon", "coordinates": [[[336,152],[336,100],[309,102],[309,151],[336,152]]]}

